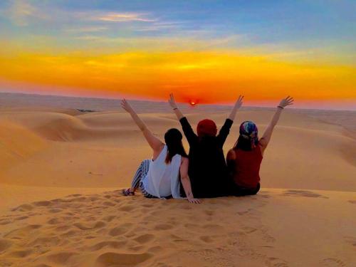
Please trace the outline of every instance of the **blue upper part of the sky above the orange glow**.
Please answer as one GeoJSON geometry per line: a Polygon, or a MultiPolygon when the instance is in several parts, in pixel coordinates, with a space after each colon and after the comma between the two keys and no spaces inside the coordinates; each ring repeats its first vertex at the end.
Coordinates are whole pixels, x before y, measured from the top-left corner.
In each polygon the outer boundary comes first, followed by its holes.
{"type": "Polygon", "coordinates": [[[36,36],[67,48],[99,38],[190,38],[207,43],[194,49],[315,51],[355,63],[356,1],[5,0],[0,9],[1,40],[28,46],[36,36]],[[115,14],[132,17],[115,21],[115,14]]]}

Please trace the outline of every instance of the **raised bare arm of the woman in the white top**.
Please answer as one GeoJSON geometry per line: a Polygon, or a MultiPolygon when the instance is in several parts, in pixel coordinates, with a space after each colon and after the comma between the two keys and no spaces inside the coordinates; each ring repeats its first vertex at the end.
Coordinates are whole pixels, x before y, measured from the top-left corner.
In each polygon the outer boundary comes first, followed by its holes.
{"type": "Polygon", "coordinates": [[[130,113],[132,119],[134,120],[136,125],[140,128],[143,135],[145,136],[148,144],[150,145],[150,147],[152,147],[152,150],[154,151],[154,157],[155,157],[155,154],[162,151],[162,148],[164,147],[164,143],[161,140],[159,140],[157,137],[155,137],[155,135],[153,135],[150,130],[148,130],[145,123],[142,122],[142,120],[140,119],[140,117],[138,117],[135,110],[133,110],[131,105],[125,99],[121,101],[121,107],[130,113]]]}

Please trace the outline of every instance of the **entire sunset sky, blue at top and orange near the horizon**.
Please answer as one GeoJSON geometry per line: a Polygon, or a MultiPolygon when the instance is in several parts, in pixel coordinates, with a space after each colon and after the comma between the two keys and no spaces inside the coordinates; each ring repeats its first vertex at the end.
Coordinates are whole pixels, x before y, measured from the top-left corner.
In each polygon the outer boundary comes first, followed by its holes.
{"type": "Polygon", "coordinates": [[[353,0],[2,0],[0,43],[0,91],[356,109],[353,0]]]}

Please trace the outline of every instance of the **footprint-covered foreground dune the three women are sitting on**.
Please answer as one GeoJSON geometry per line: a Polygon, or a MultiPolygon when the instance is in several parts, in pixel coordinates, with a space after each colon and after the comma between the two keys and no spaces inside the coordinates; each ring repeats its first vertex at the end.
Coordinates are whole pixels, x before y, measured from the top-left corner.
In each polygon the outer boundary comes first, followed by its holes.
{"type": "Polygon", "coordinates": [[[298,189],[199,206],[119,191],[72,194],[1,216],[0,264],[352,266],[355,201],[355,193],[298,189]]]}

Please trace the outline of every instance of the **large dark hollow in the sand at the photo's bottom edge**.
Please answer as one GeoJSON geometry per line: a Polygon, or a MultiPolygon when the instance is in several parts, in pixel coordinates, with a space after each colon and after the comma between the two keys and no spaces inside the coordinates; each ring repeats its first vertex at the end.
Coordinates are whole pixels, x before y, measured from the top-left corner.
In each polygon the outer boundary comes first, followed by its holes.
{"type": "Polygon", "coordinates": [[[152,257],[150,253],[103,253],[96,259],[95,266],[136,266],[152,257]]]}

